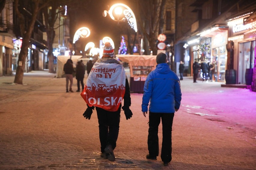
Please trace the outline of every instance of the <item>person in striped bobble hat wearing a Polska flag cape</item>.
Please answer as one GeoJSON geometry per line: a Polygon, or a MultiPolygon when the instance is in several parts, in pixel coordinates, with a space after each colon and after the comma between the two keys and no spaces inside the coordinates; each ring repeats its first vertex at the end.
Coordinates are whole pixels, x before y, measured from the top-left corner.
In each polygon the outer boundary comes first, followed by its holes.
{"type": "Polygon", "coordinates": [[[85,84],[86,94],[81,93],[87,103],[83,116],[90,120],[96,107],[102,152],[100,156],[113,162],[123,99],[122,109],[126,120],[133,115],[129,108],[131,106],[130,87],[124,68],[114,58],[114,49],[109,42],[105,43],[102,58],[96,61],[91,70],[85,84]]]}

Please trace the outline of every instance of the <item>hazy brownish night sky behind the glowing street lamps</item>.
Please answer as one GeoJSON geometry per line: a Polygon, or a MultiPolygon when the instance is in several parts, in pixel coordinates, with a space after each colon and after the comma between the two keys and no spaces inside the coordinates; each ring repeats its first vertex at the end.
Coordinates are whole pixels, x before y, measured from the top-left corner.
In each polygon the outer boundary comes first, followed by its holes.
{"type": "Polygon", "coordinates": [[[102,15],[104,10],[109,8],[115,3],[124,3],[132,8],[127,1],[117,0],[91,0],[89,3],[84,0],[78,8],[68,10],[70,17],[70,38],[73,39],[75,31],[81,27],[88,27],[91,34],[87,38],[80,38],[76,43],[76,48],[84,50],[88,42],[94,42],[95,47],[99,48],[99,40],[103,37],[111,37],[114,41],[115,48],[119,48],[121,41],[121,34],[126,31],[125,26],[129,27],[128,23],[119,23],[110,18],[109,15],[104,17],[102,15]],[[126,25],[127,24],[127,25],[126,25]]]}

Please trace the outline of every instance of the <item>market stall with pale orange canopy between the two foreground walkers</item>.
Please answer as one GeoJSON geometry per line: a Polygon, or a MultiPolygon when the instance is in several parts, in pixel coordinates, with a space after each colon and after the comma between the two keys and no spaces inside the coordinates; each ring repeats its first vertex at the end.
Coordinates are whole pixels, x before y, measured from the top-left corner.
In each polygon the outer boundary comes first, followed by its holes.
{"type": "Polygon", "coordinates": [[[156,68],[156,55],[116,55],[116,57],[129,63],[130,91],[143,92],[148,74],[156,68]]]}

